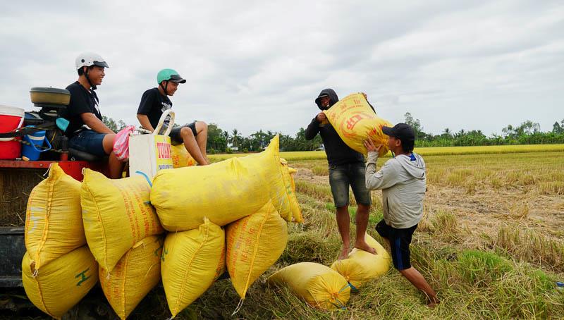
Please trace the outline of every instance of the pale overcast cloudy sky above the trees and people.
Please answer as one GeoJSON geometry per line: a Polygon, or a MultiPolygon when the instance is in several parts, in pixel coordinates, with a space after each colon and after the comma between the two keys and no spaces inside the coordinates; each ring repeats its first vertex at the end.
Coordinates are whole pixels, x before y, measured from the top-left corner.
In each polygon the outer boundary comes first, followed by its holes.
{"type": "Polygon", "coordinates": [[[178,123],[243,135],[294,135],[326,87],[435,134],[564,118],[564,1],[9,2],[0,104],[26,110],[30,87],[66,87],[95,51],[110,66],[102,114],[128,124],[161,68],[188,80],[171,97],[178,123]]]}

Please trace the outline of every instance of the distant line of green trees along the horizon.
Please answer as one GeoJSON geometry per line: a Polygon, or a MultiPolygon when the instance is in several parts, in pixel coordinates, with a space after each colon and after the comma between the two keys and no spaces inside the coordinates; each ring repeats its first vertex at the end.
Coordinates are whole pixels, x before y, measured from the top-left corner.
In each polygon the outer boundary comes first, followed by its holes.
{"type": "MultiPolygon", "coordinates": [[[[104,123],[114,132],[118,132],[125,123],[122,120],[114,121],[112,118],[103,117],[104,123]]],[[[405,113],[405,123],[415,130],[417,147],[454,147],[454,146],[479,146],[501,144],[560,144],[564,143],[564,119],[553,124],[553,129],[541,132],[539,123],[527,120],[520,125],[507,125],[501,130],[501,135],[492,134],[489,137],[481,130],[457,133],[449,128],[439,135],[425,133],[419,119],[413,118],[411,113],[405,113]]],[[[248,137],[241,135],[239,130],[233,129],[231,133],[222,130],[215,123],[208,125],[207,150],[209,154],[231,152],[259,152],[278,133],[271,130],[258,130],[248,137]]],[[[280,133],[280,149],[282,151],[311,151],[323,146],[321,137],[317,135],[314,140],[305,140],[305,129],[300,128],[295,136],[280,133]]]]}

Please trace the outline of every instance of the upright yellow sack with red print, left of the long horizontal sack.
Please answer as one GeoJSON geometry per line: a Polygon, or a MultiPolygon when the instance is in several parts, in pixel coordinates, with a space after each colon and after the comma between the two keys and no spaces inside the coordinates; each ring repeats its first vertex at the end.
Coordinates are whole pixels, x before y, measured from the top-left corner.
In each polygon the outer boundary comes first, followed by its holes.
{"type": "Polygon", "coordinates": [[[109,179],[85,169],[80,190],[82,221],[88,246],[111,272],[123,254],[149,235],[163,233],[149,202],[151,187],[144,176],[109,179]]]}

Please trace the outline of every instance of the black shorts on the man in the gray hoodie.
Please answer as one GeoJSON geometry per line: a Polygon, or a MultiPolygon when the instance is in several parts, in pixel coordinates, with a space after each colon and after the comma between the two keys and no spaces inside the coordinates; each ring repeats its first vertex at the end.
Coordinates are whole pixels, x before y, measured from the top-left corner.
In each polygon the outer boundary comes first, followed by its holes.
{"type": "Polygon", "coordinates": [[[390,240],[390,251],[394,268],[405,270],[411,268],[410,243],[417,224],[410,228],[398,229],[388,226],[384,219],[376,225],[376,231],[382,238],[390,240]]]}

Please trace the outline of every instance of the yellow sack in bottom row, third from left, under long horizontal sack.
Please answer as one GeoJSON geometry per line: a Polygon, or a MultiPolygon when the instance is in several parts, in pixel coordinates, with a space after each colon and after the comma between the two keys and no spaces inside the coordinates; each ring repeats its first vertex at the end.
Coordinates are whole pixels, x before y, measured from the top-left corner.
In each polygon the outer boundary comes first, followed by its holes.
{"type": "Polygon", "coordinates": [[[200,228],[168,233],[161,275],[172,317],[200,297],[224,268],[225,233],[208,219],[200,228]]]}

